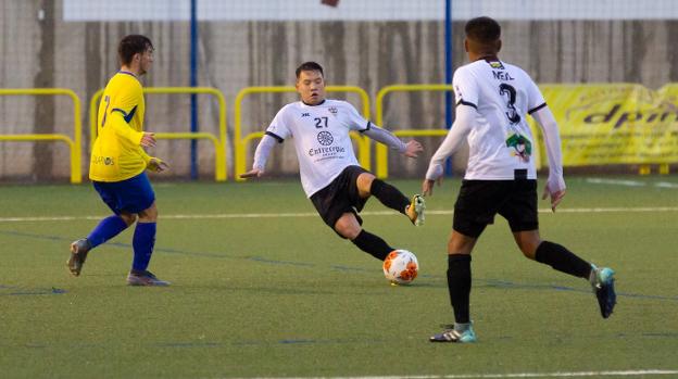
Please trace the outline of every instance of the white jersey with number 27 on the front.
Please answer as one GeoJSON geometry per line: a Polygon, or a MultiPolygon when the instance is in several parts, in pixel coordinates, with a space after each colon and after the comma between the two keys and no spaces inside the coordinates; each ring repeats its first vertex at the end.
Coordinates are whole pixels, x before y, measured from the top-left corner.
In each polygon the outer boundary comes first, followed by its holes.
{"type": "Polygon", "coordinates": [[[346,101],[325,100],[317,105],[297,101],[285,105],[276,114],[266,134],[278,142],[293,137],[301,185],[311,198],[347,166],[360,165],[353,153],[349,131],[365,131],[369,125],[346,101]]]}

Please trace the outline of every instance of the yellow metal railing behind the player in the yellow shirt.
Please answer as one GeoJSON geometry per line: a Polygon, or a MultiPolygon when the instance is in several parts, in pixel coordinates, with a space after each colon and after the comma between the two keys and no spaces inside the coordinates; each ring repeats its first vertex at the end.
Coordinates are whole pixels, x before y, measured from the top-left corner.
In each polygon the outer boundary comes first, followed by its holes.
{"type": "MultiPolygon", "coordinates": [[[[211,132],[155,132],[158,139],[208,139],[214,144],[214,179],[225,181],[226,174],[226,100],[222,91],[211,87],[147,87],[145,93],[208,93],[216,97],[219,104],[218,137],[211,132]]],[[[97,111],[103,89],[97,91],[89,101],[90,147],[97,136],[97,111]]]]}

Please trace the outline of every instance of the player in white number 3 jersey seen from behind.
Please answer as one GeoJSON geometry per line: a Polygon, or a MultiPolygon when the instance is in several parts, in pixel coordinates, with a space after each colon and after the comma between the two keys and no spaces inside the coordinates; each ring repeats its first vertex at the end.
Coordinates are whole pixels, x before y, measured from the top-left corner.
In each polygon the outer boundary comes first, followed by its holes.
{"type": "Polygon", "coordinates": [[[616,302],[614,271],[597,268],[566,248],[539,236],[537,173],[533,138],[526,117],[541,127],[549,155],[543,199],[555,212],[565,195],[557,124],[532,79],[519,67],[501,61],[501,28],[489,17],[470,20],[464,46],[470,63],[454,73],[456,119],[434,154],[424,195],[440,185],[443,162],[466,139],[468,164],[454,204],[453,230],[448,241],[448,289],[455,323],[431,342],[475,342],[469,316],[470,252],[485,227],[500,214],[508,222],[523,254],[556,270],[591,282],[601,315],[607,318],[616,302]]]}

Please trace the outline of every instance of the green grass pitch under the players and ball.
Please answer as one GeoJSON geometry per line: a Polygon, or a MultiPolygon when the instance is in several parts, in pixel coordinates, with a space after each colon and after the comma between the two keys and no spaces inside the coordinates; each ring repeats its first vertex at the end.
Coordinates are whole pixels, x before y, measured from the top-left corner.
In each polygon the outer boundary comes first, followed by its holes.
{"type": "Polygon", "coordinates": [[[368,202],[365,229],[417,254],[409,287],[327,228],[296,180],[156,184],[150,269],[168,288],[125,286],[133,230],[67,274],[70,242],[109,212],[90,186],[0,187],[0,377],[678,376],[678,177],[567,182],[558,212],[540,213],[542,238],[617,271],[615,313],[602,319],[587,282],[524,258],[498,217],[473,256],[473,345],[427,341],[453,321],[459,180],[436,188],[420,228],[368,202]]]}

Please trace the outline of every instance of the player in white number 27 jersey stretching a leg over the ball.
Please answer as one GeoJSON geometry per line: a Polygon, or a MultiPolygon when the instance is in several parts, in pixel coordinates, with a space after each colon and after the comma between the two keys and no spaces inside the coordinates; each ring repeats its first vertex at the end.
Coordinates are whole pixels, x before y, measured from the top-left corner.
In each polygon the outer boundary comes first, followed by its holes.
{"type": "Polygon", "coordinates": [[[422,144],[414,140],[402,142],[363,118],[346,101],[325,99],[325,77],[319,64],[305,62],[296,74],[301,101],[285,105],[276,114],[256,147],[253,168],[241,177],[262,176],[273,147],[293,137],[302,187],[325,224],[341,238],[384,261],[394,249],[362,228],[359,212],[374,195],[384,205],[406,215],[414,225],[422,225],[424,199],[415,194],[410,200],[395,187],[361,167],[349,131],[360,131],[409,157],[416,157],[423,150],[422,144]]]}

